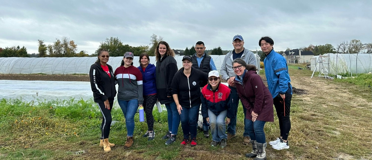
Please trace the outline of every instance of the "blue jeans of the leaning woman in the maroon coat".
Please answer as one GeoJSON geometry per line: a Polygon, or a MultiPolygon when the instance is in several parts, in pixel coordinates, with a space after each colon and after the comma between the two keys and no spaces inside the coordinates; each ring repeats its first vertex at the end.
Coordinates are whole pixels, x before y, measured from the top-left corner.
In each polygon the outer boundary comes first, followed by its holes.
{"type": "Polygon", "coordinates": [[[246,125],[244,128],[247,128],[251,140],[256,140],[258,143],[266,143],[265,132],[263,131],[266,121],[256,120],[252,122],[252,120],[248,119],[245,119],[245,121],[246,125]]]}

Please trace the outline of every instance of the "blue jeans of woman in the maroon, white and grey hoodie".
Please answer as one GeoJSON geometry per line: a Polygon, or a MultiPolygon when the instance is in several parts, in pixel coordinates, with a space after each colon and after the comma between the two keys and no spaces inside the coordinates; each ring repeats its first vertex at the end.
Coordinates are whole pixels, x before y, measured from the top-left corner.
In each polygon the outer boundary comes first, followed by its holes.
{"type": "Polygon", "coordinates": [[[122,101],[118,99],[119,106],[123,111],[124,118],[125,118],[125,126],[128,133],[126,134],[128,137],[133,137],[134,133],[134,115],[138,109],[138,100],[131,99],[129,101],[122,101]]]}

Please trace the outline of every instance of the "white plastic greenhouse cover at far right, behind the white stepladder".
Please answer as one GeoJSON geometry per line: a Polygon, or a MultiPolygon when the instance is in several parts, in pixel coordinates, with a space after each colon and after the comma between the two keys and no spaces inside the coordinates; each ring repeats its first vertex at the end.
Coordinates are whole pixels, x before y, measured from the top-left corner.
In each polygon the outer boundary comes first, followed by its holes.
{"type": "Polygon", "coordinates": [[[372,53],[327,53],[320,56],[313,56],[311,58],[311,71],[315,69],[315,71],[319,72],[321,68],[324,68],[328,73],[333,75],[337,73],[359,74],[372,72],[372,53]]]}

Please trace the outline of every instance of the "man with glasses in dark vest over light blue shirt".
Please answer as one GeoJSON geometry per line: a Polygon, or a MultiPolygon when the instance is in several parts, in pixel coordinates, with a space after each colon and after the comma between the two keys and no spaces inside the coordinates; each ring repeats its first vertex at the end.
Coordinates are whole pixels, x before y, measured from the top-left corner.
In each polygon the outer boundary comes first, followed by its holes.
{"type": "MultiPolygon", "coordinates": [[[[192,55],[192,66],[196,69],[199,69],[206,74],[208,74],[210,71],[217,71],[216,65],[213,62],[213,59],[211,56],[207,55],[205,52],[205,46],[202,41],[196,42],[195,45],[195,51],[196,53],[192,55]]],[[[200,86],[203,87],[203,86],[200,86]]],[[[199,115],[201,114],[201,111],[199,111],[199,115]]],[[[199,116],[200,117],[200,116],[199,116]]],[[[200,120],[201,123],[201,120],[200,120]]],[[[198,121],[199,124],[199,121],[198,121]]],[[[201,126],[200,126],[201,127],[201,126]]],[[[203,133],[206,138],[209,137],[209,124],[206,122],[205,118],[203,118],[203,133]]]]}

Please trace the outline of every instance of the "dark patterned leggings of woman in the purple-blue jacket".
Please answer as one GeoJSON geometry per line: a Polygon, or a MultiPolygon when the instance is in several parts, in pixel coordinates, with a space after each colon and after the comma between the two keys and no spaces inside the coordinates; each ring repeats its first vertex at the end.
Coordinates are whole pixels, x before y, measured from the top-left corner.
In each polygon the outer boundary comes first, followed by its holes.
{"type": "Polygon", "coordinates": [[[145,95],[144,101],[143,101],[143,108],[146,113],[146,121],[147,121],[147,127],[148,131],[154,130],[154,116],[153,116],[153,109],[154,105],[157,99],[157,95],[145,95]]]}

